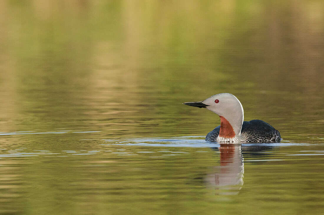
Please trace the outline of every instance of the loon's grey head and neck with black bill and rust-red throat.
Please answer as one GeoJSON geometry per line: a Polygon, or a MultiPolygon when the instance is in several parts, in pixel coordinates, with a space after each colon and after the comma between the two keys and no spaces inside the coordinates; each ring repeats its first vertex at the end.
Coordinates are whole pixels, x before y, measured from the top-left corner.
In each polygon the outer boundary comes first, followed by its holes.
{"type": "Polygon", "coordinates": [[[219,138],[232,139],[241,134],[244,111],[241,102],[230,93],[220,93],[202,102],[186,102],[185,105],[206,108],[221,119],[219,138]]]}

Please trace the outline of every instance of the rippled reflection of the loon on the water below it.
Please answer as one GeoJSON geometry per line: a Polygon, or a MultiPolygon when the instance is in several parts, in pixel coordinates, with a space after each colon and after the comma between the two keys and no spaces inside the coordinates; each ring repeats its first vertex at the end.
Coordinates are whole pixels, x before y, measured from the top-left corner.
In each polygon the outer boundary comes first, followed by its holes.
{"type": "MultiPolygon", "coordinates": [[[[271,146],[244,146],[241,144],[220,144],[212,148],[220,152],[220,166],[212,168],[206,176],[208,187],[216,190],[217,195],[236,195],[243,187],[244,163],[242,151],[255,155],[258,151],[272,149],[271,146]]],[[[259,154],[264,156],[264,154],[259,154]]]]}

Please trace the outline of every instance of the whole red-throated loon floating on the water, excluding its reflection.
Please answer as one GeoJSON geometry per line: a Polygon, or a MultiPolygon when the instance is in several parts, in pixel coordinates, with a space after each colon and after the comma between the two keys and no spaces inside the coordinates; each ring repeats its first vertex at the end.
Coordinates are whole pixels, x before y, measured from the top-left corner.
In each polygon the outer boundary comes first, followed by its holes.
{"type": "Polygon", "coordinates": [[[268,123],[254,119],[243,121],[244,111],[241,102],[230,93],[220,93],[202,102],[186,102],[185,105],[206,108],[216,113],[220,126],[209,132],[206,141],[221,143],[278,143],[281,140],[278,130],[268,123]]]}

